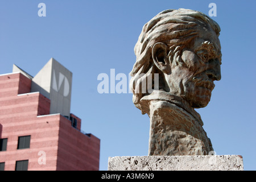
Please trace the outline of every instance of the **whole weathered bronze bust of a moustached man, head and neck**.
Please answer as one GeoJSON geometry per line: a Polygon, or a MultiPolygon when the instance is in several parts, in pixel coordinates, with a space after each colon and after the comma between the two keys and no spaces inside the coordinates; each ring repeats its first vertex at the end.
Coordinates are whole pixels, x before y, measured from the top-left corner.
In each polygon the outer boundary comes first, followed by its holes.
{"type": "Polygon", "coordinates": [[[214,20],[187,9],[162,11],[143,26],[130,89],[134,105],[150,117],[148,155],[213,151],[195,108],[208,105],[213,81],[221,79],[219,33],[214,20]],[[143,92],[146,80],[155,83],[152,92],[143,92]]]}

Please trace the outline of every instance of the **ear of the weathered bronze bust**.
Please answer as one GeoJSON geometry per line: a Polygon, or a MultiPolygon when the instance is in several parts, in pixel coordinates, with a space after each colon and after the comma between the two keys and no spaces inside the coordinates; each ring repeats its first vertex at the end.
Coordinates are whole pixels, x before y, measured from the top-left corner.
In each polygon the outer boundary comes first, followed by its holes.
{"type": "Polygon", "coordinates": [[[171,66],[169,63],[169,59],[167,56],[168,46],[162,42],[155,43],[152,48],[152,59],[163,73],[170,74],[171,73],[171,66]]]}

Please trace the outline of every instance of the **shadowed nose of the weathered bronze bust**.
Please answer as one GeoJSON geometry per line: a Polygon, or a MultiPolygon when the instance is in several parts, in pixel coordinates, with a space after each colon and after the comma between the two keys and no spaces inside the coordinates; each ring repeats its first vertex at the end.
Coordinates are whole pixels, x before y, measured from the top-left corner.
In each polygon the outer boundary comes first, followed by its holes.
{"type": "Polygon", "coordinates": [[[209,68],[207,69],[206,74],[210,80],[221,80],[220,61],[218,61],[218,59],[209,61],[209,68]]]}

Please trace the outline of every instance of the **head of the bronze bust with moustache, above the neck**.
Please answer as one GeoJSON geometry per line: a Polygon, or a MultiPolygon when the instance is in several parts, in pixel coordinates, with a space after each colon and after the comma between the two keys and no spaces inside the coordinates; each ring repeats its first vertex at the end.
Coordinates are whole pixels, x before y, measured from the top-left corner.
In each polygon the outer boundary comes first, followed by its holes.
{"type": "Polygon", "coordinates": [[[214,20],[187,9],[162,11],[146,23],[130,73],[135,106],[141,109],[141,98],[151,94],[135,90],[141,90],[138,87],[154,73],[158,73],[159,90],[179,96],[193,108],[207,106],[213,81],[221,79],[219,32],[214,20]]]}

